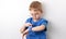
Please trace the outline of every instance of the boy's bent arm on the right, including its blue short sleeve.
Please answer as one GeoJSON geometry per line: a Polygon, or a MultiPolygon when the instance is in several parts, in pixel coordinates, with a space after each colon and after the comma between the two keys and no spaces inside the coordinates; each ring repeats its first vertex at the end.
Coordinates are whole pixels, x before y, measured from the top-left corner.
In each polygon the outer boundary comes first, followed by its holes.
{"type": "Polygon", "coordinates": [[[41,22],[41,26],[33,27],[33,28],[32,28],[32,31],[46,30],[47,24],[48,24],[48,22],[43,20],[43,21],[41,22]]]}

